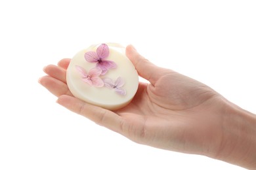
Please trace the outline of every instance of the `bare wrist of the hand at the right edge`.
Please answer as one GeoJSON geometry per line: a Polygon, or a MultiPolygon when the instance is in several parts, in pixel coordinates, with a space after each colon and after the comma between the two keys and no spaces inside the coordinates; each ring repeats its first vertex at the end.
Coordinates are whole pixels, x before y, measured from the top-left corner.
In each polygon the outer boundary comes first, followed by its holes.
{"type": "Polygon", "coordinates": [[[215,158],[248,169],[256,168],[256,115],[226,101],[223,134],[215,158]]]}

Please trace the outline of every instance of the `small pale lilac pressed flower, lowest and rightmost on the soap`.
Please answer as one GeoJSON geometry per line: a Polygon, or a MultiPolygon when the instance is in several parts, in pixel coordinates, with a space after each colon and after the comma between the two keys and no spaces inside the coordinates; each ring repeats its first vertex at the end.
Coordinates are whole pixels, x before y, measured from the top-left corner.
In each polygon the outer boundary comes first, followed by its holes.
{"type": "Polygon", "coordinates": [[[103,78],[104,86],[108,88],[112,88],[116,91],[116,93],[119,93],[120,95],[125,95],[126,91],[121,88],[125,82],[121,77],[118,77],[116,79],[116,82],[114,82],[111,78],[103,78]]]}

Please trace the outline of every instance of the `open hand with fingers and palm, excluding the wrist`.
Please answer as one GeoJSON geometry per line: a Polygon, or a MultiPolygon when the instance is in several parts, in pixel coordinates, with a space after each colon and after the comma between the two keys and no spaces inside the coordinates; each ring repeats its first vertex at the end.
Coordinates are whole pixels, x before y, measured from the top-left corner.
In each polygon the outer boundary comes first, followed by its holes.
{"type": "Polygon", "coordinates": [[[129,105],[114,112],[75,98],[66,85],[70,59],[48,65],[39,82],[58,97],[58,103],[101,126],[141,144],[179,152],[212,155],[221,143],[223,97],[208,86],[163,69],[127,46],[127,57],[140,76],[139,89],[129,105]],[[216,107],[217,106],[217,107],[216,107]]]}

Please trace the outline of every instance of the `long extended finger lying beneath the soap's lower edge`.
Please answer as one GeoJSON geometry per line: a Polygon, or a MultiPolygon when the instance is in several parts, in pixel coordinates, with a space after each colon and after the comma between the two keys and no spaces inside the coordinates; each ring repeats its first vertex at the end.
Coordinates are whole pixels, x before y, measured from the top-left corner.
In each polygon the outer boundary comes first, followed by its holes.
{"type": "Polygon", "coordinates": [[[76,112],[77,114],[89,118],[100,126],[121,133],[123,120],[120,116],[110,110],[85,103],[84,101],[69,95],[61,95],[56,102],[72,112],[76,112]]]}

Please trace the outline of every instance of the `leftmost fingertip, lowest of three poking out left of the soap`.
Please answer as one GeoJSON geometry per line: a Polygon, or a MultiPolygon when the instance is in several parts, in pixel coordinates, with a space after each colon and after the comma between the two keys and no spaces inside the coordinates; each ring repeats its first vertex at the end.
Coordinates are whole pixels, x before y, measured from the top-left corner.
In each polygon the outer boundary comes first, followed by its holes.
{"type": "Polygon", "coordinates": [[[57,97],[64,94],[72,95],[66,83],[51,76],[43,76],[38,82],[57,97]]]}

